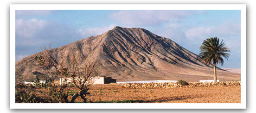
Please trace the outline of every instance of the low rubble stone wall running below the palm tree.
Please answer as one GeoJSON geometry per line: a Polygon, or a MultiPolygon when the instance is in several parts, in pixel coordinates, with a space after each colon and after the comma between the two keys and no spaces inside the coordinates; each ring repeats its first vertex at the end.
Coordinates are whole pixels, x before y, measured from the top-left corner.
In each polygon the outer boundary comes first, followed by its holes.
{"type": "Polygon", "coordinates": [[[187,85],[179,83],[125,83],[121,87],[132,89],[148,89],[148,88],[194,88],[194,87],[235,87],[240,86],[241,81],[227,82],[189,82],[187,85]]]}

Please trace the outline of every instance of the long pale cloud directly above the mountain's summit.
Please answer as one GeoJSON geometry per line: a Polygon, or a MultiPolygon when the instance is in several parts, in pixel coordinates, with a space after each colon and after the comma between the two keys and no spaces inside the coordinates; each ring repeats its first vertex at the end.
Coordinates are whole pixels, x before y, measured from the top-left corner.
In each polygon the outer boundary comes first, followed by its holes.
{"type": "Polygon", "coordinates": [[[199,13],[185,10],[121,10],[112,14],[111,18],[124,25],[156,25],[199,13]]]}

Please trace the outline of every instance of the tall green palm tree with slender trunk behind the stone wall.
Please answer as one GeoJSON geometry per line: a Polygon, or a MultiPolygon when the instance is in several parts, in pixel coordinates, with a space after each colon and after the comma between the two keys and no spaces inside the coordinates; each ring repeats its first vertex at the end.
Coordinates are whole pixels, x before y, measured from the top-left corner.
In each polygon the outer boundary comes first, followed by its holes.
{"type": "Polygon", "coordinates": [[[214,65],[214,82],[217,82],[217,75],[216,75],[216,64],[223,65],[224,61],[223,58],[228,59],[230,52],[229,49],[225,46],[225,43],[219,41],[217,37],[210,37],[203,41],[202,45],[200,46],[200,54],[199,57],[201,61],[205,64],[213,64],[214,65]]]}

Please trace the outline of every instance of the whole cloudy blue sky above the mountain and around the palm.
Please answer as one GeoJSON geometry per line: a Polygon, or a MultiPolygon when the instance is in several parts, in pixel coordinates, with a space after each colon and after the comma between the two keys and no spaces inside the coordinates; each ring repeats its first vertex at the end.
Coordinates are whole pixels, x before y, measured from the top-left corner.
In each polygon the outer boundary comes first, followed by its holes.
{"type": "Polygon", "coordinates": [[[195,54],[203,40],[223,39],[231,50],[220,68],[241,66],[240,10],[16,10],[15,61],[79,39],[100,35],[114,26],[144,28],[170,38],[195,54]]]}

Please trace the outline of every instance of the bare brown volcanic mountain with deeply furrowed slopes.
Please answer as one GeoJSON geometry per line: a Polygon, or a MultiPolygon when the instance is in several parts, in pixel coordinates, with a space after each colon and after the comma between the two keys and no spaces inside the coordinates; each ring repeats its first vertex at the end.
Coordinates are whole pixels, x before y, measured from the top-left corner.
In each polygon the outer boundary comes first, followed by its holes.
{"type": "MultiPolygon", "coordinates": [[[[198,82],[200,79],[213,79],[214,73],[212,65],[203,64],[193,52],[142,28],[116,26],[102,35],[52,50],[57,61],[66,59],[65,65],[72,55],[87,62],[98,62],[101,76],[111,76],[117,81],[184,79],[198,82]]],[[[35,54],[16,62],[16,82],[45,73],[33,57],[35,54]]],[[[240,81],[240,74],[219,68],[217,78],[220,81],[240,81]]]]}

